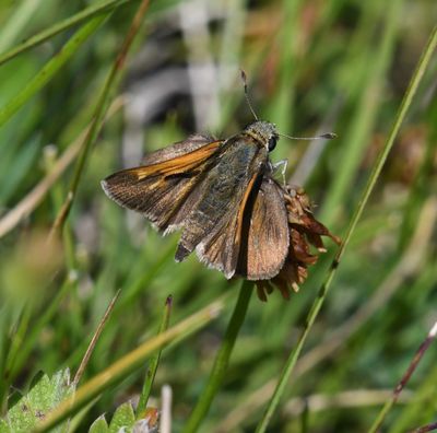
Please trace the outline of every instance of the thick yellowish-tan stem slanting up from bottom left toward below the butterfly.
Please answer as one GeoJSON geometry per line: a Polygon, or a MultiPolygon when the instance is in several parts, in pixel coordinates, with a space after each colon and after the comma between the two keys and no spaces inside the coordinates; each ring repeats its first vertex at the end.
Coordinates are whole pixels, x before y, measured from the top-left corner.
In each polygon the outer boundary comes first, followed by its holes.
{"type": "Polygon", "coordinates": [[[182,338],[187,338],[189,335],[216,318],[223,311],[223,299],[215,301],[165,332],[145,341],[135,350],[116,361],[113,365],[81,386],[70,398],[63,400],[36,426],[36,429],[34,429],[34,432],[48,432],[72,413],[78,413],[81,408],[95,399],[105,389],[120,383],[141,367],[152,352],[168,344],[170,341],[176,339],[180,341],[182,338]]]}

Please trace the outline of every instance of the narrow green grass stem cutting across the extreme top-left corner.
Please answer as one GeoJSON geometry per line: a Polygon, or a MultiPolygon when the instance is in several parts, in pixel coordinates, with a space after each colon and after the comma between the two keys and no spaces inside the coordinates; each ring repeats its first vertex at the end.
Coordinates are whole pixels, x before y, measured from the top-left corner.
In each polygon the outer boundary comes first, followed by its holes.
{"type": "Polygon", "coordinates": [[[13,59],[17,55],[36,47],[39,44],[43,44],[44,42],[50,39],[51,37],[56,36],[57,34],[64,32],[69,28],[71,28],[74,25],[78,25],[82,23],[83,21],[90,20],[95,15],[101,15],[103,13],[109,12],[114,10],[115,8],[131,2],[133,0],[107,0],[104,1],[99,4],[92,5],[90,8],[84,9],[81,12],[78,12],[76,14],[62,20],[60,23],[57,23],[49,28],[46,28],[45,31],[38,33],[35,36],[29,37],[22,44],[15,46],[14,48],[11,48],[10,50],[3,52],[0,55],[0,66],[5,63],[7,61],[13,59]]]}

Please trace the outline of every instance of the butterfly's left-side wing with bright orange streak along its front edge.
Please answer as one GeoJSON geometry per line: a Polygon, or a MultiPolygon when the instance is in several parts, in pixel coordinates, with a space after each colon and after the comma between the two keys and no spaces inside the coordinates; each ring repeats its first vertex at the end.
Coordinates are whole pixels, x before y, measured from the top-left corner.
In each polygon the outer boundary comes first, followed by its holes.
{"type": "Polygon", "coordinates": [[[167,230],[222,144],[196,137],[150,154],[143,166],[113,174],[102,182],[103,189],[120,206],[143,213],[161,231],[167,230]]]}

